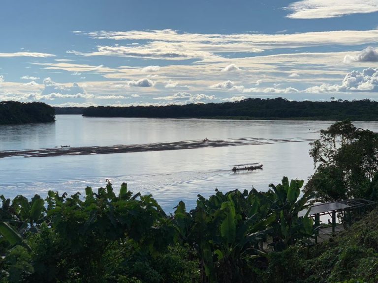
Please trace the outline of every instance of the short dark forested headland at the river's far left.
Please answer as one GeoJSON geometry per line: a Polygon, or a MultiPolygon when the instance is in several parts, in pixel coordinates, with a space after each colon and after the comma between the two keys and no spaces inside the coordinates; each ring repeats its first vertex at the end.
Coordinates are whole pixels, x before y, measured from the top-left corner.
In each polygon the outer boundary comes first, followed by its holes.
{"type": "Polygon", "coordinates": [[[46,123],[55,121],[53,107],[42,102],[0,102],[0,125],[46,123]]]}

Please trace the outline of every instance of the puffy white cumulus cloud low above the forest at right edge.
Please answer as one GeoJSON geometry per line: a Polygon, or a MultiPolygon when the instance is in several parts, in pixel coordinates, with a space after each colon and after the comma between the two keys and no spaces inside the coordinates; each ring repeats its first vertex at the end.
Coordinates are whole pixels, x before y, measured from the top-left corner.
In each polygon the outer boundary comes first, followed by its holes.
{"type": "Polygon", "coordinates": [[[341,85],[322,84],[309,87],[305,92],[377,92],[378,68],[347,73],[341,85]]]}

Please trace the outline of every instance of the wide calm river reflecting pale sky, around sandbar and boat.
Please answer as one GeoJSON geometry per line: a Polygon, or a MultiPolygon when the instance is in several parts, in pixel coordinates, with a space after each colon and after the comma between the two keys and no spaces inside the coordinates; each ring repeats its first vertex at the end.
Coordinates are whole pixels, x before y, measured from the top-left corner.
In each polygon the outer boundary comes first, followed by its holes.
{"type": "MultiPolygon", "coordinates": [[[[152,194],[166,212],[180,200],[195,206],[215,188],[260,191],[283,176],[304,179],[314,172],[309,141],[332,122],[254,121],[152,118],[88,118],[57,115],[55,123],[0,126],[0,151],[116,144],[145,144],[240,138],[261,139],[262,144],[164,150],[134,153],[0,159],[0,194],[32,197],[47,191],[95,190],[110,179],[116,190],[122,182],[134,193],[152,194]],[[263,170],[233,173],[234,165],[262,163],[263,170]]],[[[378,122],[355,122],[378,131],[378,122]]]]}

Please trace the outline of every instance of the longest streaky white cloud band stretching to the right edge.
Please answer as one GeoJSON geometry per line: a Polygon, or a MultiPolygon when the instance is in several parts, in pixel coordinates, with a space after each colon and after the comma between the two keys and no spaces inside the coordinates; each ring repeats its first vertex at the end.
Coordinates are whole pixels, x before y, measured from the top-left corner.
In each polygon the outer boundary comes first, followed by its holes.
{"type": "Polygon", "coordinates": [[[224,62],[227,57],[224,57],[223,53],[226,52],[250,54],[277,48],[373,44],[377,42],[378,30],[337,30],[291,34],[200,34],[164,29],[94,31],[87,33],[87,35],[96,39],[143,40],[146,42],[139,45],[125,46],[100,45],[96,51],[90,53],[79,51],[67,51],[67,53],[86,57],[113,56],[164,60],[199,59],[199,62],[221,60],[224,62]]]}

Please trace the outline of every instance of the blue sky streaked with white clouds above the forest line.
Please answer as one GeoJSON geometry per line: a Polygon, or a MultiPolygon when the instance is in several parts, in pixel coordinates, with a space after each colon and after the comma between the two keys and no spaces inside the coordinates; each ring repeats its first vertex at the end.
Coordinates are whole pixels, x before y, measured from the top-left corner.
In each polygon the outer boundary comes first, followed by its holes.
{"type": "Polygon", "coordinates": [[[0,100],[378,100],[378,0],[2,0],[0,100]]]}

